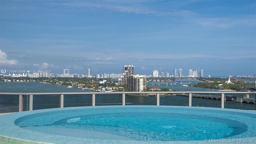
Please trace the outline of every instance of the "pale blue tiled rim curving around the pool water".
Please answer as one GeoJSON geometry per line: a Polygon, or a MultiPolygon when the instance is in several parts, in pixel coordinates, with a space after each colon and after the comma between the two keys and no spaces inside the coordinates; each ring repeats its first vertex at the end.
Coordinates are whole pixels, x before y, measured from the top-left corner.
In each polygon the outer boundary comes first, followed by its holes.
{"type": "MultiPolygon", "coordinates": [[[[41,132],[35,132],[31,130],[26,130],[24,128],[20,128],[14,121],[22,116],[27,116],[30,114],[36,114],[41,112],[52,112],[58,110],[76,110],[76,109],[86,109],[86,108],[125,108],[125,107],[155,107],[155,108],[189,108],[189,109],[208,109],[208,110],[221,110],[228,112],[242,112],[247,114],[252,114],[256,118],[256,111],[248,111],[248,110],[236,110],[236,109],[223,109],[223,108],[206,108],[206,107],[188,107],[188,106],[82,106],[82,107],[69,107],[69,108],[51,108],[51,109],[43,109],[43,110],[33,110],[33,111],[25,111],[25,112],[15,112],[10,114],[5,114],[0,116],[0,142],[4,144],[8,143],[17,143],[17,144],[52,144],[52,143],[170,143],[164,141],[137,141],[137,140],[102,140],[102,139],[93,139],[93,138],[78,138],[78,137],[67,137],[60,135],[52,135],[45,134],[41,132]],[[39,136],[36,138],[34,136],[39,136]],[[26,140],[22,139],[25,138],[26,140]],[[47,140],[47,139],[50,140],[47,140]]],[[[256,141],[256,136],[248,137],[244,139],[253,138],[256,141]]],[[[172,143],[206,143],[204,141],[171,141],[172,143]]],[[[208,141],[209,142],[209,141],[208,141]]],[[[218,142],[220,143],[220,142],[218,142]]]]}

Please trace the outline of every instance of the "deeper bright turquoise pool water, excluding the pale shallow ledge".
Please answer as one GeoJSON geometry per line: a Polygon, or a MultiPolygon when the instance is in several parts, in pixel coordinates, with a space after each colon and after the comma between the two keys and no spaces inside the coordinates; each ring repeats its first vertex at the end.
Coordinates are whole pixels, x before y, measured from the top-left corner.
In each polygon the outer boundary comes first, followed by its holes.
{"type": "Polygon", "coordinates": [[[247,130],[245,124],[233,120],[168,113],[96,114],[66,118],[50,126],[94,130],[150,141],[226,138],[247,130]]]}

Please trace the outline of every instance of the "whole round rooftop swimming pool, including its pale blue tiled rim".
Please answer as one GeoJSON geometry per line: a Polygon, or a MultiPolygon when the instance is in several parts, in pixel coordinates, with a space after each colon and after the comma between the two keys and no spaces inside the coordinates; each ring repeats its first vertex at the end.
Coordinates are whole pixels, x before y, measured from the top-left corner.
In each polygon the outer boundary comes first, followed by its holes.
{"type": "Polygon", "coordinates": [[[256,112],[249,110],[187,106],[86,106],[33,110],[0,118],[1,138],[45,143],[256,140],[256,112]]]}

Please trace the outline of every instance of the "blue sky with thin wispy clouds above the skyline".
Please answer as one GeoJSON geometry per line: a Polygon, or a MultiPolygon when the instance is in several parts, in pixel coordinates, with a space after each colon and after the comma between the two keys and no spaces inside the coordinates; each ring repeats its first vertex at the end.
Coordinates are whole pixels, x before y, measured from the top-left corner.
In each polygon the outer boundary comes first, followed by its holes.
{"type": "Polygon", "coordinates": [[[255,0],[0,0],[0,69],[256,74],[255,0]]]}

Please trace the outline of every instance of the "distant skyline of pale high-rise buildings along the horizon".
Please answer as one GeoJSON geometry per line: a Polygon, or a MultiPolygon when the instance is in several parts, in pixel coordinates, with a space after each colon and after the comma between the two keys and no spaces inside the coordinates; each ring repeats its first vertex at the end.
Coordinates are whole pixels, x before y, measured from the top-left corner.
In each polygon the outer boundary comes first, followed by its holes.
{"type": "Polygon", "coordinates": [[[80,78],[80,77],[96,77],[96,78],[121,78],[123,75],[143,75],[146,77],[176,77],[176,78],[182,78],[182,77],[188,77],[188,78],[196,78],[196,77],[255,77],[256,74],[251,75],[228,75],[228,76],[211,76],[207,75],[204,76],[203,69],[200,70],[200,68],[196,68],[195,70],[189,70],[188,74],[184,74],[186,72],[182,72],[182,69],[179,69],[179,72],[177,73],[177,69],[174,68],[173,73],[169,72],[158,72],[158,70],[153,70],[152,74],[146,75],[146,74],[136,74],[134,72],[134,66],[133,65],[123,65],[122,73],[101,73],[101,74],[90,74],[90,68],[87,69],[87,73],[72,73],[70,72],[70,69],[63,69],[62,74],[54,74],[51,70],[6,70],[1,69],[0,76],[12,76],[12,77],[31,77],[31,78],[38,78],[38,77],[67,77],[67,78],[80,78]],[[176,74],[176,75],[175,75],[176,74]]]}

